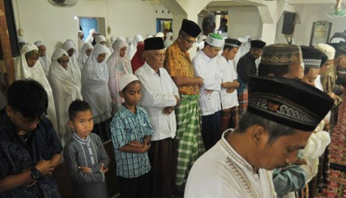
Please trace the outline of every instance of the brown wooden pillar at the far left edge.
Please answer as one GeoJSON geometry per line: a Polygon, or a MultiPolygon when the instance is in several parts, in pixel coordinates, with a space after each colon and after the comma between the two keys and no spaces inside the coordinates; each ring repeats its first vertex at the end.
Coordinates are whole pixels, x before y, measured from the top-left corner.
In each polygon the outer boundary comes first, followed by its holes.
{"type": "Polygon", "coordinates": [[[0,44],[3,60],[0,60],[0,71],[4,75],[4,85],[0,85],[0,90],[5,94],[8,87],[14,81],[14,64],[12,59],[11,45],[9,41],[8,28],[3,0],[0,0],[0,44]]]}

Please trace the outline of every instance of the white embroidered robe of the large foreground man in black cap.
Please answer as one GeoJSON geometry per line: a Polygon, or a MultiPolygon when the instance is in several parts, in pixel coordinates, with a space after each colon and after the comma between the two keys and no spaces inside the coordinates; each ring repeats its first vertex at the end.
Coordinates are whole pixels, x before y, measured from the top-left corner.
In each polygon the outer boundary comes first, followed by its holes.
{"type": "Polygon", "coordinates": [[[276,198],[271,171],[254,173],[226,141],[229,132],[194,163],[184,198],[276,198]]]}

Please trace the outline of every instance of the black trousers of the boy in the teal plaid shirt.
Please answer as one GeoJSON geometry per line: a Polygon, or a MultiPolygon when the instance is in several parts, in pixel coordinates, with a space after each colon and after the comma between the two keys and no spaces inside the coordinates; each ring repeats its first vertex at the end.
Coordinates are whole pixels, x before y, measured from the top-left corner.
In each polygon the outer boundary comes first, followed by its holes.
{"type": "Polygon", "coordinates": [[[149,173],[136,178],[118,177],[120,198],[150,198],[149,173]]]}

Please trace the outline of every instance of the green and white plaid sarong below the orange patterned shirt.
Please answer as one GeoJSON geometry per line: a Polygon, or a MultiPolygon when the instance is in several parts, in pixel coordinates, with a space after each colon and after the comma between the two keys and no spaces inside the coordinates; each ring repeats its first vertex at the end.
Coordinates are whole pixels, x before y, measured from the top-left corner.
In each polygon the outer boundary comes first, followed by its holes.
{"type": "Polygon", "coordinates": [[[181,103],[175,109],[176,116],[176,180],[177,189],[184,189],[187,176],[195,161],[204,151],[202,139],[202,117],[199,95],[181,95],[181,103]]]}

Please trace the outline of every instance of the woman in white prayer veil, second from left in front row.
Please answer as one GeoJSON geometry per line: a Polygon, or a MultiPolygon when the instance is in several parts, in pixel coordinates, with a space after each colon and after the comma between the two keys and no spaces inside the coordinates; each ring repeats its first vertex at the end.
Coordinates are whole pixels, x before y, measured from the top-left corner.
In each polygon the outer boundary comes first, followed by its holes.
{"type": "Polygon", "coordinates": [[[62,146],[65,146],[72,137],[72,129],[68,126],[69,105],[76,99],[82,100],[83,97],[81,86],[73,80],[68,53],[64,49],[56,49],[51,62],[48,80],[53,90],[59,124],[58,135],[62,146]]]}

